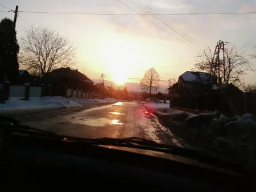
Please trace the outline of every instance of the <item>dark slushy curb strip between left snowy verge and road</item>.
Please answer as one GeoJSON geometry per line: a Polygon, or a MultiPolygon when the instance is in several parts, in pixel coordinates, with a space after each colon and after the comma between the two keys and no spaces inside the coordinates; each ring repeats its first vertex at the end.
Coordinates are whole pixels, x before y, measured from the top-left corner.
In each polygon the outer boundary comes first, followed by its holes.
{"type": "Polygon", "coordinates": [[[59,108],[41,108],[41,109],[36,109],[36,108],[31,108],[31,109],[17,109],[15,112],[12,111],[1,111],[0,116],[8,116],[11,118],[15,118],[17,120],[24,118],[31,118],[31,117],[37,117],[37,116],[42,116],[44,115],[44,118],[49,115],[58,115],[58,114],[65,114],[65,113],[71,113],[71,112],[76,112],[76,111],[81,111],[84,109],[91,109],[91,108],[97,108],[100,106],[106,106],[109,104],[113,104],[115,102],[105,102],[105,103],[95,103],[95,104],[88,104],[85,106],[78,106],[78,107],[73,107],[73,108],[66,108],[66,107],[59,107],[59,108]]]}

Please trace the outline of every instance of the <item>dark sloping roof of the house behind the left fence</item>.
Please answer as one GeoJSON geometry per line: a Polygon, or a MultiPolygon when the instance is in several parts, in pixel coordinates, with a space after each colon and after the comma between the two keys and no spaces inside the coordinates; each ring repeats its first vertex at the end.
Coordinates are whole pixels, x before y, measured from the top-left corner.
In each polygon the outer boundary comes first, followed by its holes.
{"type": "Polygon", "coordinates": [[[79,72],[78,70],[72,70],[69,67],[67,68],[57,68],[49,72],[44,76],[45,83],[59,83],[62,77],[67,77],[69,79],[78,79],[83,81],[86,84],[93,84],[93,81],[87,76],[79,72]]]}

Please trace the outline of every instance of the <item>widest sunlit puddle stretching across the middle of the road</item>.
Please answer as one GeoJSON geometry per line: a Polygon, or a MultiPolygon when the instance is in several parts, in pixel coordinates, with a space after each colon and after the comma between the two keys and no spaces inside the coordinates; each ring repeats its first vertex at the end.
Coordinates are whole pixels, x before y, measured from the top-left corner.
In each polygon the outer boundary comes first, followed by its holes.
{"type": "Polygon", "coordinates": [[[72,124],[82,124],[88,125],[92,127],[104,127],[105,125],[124,125],[119,120],[113,119],[110,120],[108,118],[84,118],[84,119],[77,119],[72,120],[72,124]]]}

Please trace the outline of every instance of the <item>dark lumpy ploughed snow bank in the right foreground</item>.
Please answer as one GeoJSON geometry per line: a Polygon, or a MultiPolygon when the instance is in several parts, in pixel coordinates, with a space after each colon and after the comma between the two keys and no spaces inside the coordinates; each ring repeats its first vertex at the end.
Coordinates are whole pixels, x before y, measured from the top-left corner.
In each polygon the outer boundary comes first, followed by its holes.
{"type": "Polygon", "coordinates": [[[190,116],[184,125],[195,131],[195,140],[204,139],[206,145],[218,150],[234,152],[256,165],[256,117],[252,114],[228,118],[219,111],[190,116]]]}

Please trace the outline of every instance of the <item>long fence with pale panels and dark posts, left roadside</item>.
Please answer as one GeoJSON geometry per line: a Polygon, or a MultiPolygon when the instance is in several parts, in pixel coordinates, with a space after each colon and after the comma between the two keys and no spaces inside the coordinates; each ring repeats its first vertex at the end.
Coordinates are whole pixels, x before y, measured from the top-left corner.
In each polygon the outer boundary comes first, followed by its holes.
{"type": "Polygon", "coordinates": [[[29,100],[31,97],[45,96],[62,96],[62,97],[77,97],[81,99],[99,99],[99,93],[90,92],[88,90],[78,90],[62,86],[58,88],[52,87],[50,84],[42,86],[13,85],[9,83],[0,84],[1,102],[8,100],[9,97],[23,97],[24,100],[29,100]],[[57,91],[56,91],[57,90],[57,91]]]}

